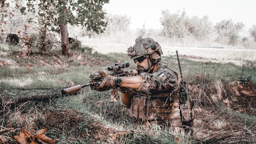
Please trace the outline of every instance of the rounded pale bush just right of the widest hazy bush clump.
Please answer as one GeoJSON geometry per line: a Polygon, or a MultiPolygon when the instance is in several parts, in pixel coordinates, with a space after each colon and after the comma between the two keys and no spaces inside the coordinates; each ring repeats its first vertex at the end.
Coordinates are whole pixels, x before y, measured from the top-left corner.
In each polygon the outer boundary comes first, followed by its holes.
{"type": "Polygon", "coordinates": [[[217,42],[235,45],[237,42],[239,42],[238,33],[242,30],[242,28],[244,28],[244,24],[242,22],[234,24],[232,19],[229,19],[216,23],[214,28],[218,34],[216,39],[217,42]]]}

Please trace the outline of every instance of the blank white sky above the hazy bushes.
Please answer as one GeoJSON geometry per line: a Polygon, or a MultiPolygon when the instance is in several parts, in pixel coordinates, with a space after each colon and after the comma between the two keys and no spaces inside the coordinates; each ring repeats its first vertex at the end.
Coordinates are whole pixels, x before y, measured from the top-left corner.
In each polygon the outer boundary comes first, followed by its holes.
{"type": "Polygon", "coordinates": [[[245,29],[256,24],[256,0],[109,0],[103,6],[108,13],[126,14],[131,18],[131,28],[161,28],[161,11],[171,14],[185,10],[187,16],[206,15],[215,25],[224,19],[235,23],[242,21],[245,29]]]}

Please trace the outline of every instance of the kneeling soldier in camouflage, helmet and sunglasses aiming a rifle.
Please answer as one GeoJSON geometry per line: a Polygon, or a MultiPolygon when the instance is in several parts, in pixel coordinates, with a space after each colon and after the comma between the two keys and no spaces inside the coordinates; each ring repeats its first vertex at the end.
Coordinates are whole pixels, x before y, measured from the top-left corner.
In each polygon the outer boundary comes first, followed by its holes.
{"type": "Polygon", "coordinates": [[[158,42],[138,37],[135,45],[128,48],[128,56],[143,72],[132,77],[113,77],[100,72],[104,79],[93,89],[107,91],[120,87],[121,100],[130,108],[130,116],[141,120],[145,128],[167,125],[172,132],[191,135],[193,119],[190,117],[190,123],[183,123],[178,74],[161,63],[162,54],[158,42]]]}

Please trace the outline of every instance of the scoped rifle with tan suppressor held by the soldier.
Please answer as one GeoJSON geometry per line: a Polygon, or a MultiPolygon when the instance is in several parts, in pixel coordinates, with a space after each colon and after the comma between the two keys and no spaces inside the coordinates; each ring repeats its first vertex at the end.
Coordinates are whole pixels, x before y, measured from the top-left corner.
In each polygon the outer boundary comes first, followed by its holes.
{"type": "MultiPolygon", "coordinates": [[[[107,70],[110,71],[108,74],[111,76],[115,76],[115,77],[128,77],[128,76],[137,75],[138,70],[130,70],[130,71],[123,70],[123,68],[129,67],[129,66],[130,66],[130,63],[115,63],[114,66],[107,67],[107,70]]],[[[63,89],[61,91],[62,95],[80,91],[81,88],[84,88],[86,86],[99,86],[101,81],[104,79],[104,77],[102,77],[102,75],[98,72],[91,74],[90,78],[91,78],[91,80],[87,84],[84,84],[81,86],[76,85],[76,86],[72,86],[70,88],[63,89]]],[[[117,91],[118,91],[117,87],[112,88],[112,92],[111,92],[111,100],[112,101],[116,101],[117,91]]]]}

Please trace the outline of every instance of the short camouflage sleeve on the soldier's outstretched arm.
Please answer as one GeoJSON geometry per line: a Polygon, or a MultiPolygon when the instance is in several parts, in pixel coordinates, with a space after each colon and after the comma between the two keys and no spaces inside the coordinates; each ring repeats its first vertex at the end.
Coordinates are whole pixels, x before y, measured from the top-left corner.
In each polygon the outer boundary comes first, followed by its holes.
{"type": "Polygon", "coordinates": [[[177,75],[174,72],[159,71],[154,74],[143,72],[142,83],[139,91],[144,93],[151,92],[171,92],[177,87],[177,75]]]}

